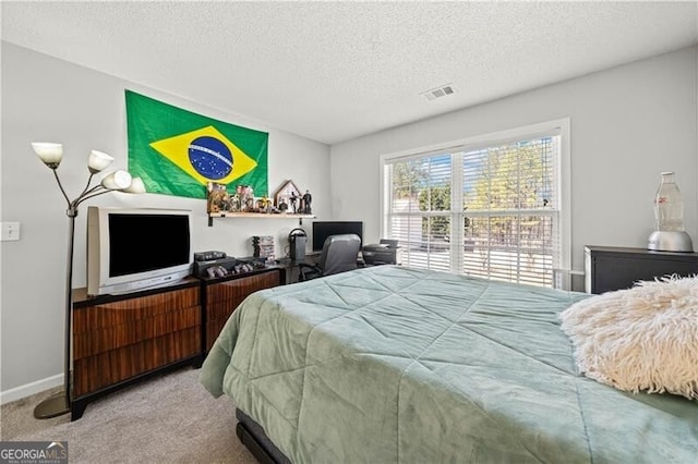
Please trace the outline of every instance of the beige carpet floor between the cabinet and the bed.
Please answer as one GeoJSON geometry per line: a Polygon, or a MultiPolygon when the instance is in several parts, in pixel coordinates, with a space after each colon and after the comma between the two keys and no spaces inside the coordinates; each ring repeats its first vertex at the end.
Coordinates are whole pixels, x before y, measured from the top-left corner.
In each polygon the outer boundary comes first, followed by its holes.
{"type": "Polygon", "coordinates": [[[35,419],[51,392],[2,406],[3,441],[68,441],[71,463],[256,463],[234,432],[230,399],[214,399],[198,370],[183,368],[139,382],[70,415],[35,419]]]}

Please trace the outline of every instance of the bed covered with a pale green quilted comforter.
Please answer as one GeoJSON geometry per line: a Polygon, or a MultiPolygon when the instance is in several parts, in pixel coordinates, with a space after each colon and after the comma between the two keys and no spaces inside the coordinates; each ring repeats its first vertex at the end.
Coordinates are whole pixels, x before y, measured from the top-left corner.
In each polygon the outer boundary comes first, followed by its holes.
{"type": "Polygon", "coordinates": [[[250,295],[200,380],[277,462],[698,462],[698,402],[577,370],[558,315],[588,296],[358,269],[250,295]]]}

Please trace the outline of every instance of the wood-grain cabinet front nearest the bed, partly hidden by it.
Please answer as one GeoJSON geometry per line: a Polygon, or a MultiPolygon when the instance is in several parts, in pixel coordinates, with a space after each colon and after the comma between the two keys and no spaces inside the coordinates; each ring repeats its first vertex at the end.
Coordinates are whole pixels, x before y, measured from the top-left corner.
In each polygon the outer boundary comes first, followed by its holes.
{"type": "Polygon", "coordinates": [[[206,286],[206,352],[213,346],[230,315],[248,295],[279,284],[280,273],[269,271],[206,286]]]}

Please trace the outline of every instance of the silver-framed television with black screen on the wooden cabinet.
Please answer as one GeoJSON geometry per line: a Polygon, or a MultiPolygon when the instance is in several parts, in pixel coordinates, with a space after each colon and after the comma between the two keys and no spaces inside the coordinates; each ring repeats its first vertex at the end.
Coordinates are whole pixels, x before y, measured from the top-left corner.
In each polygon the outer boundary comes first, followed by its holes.
{"type": "Polygon", "coordinates": [[[191,274],[191,211],[87,209],[87,294],[120,294],[191,274]]]}

